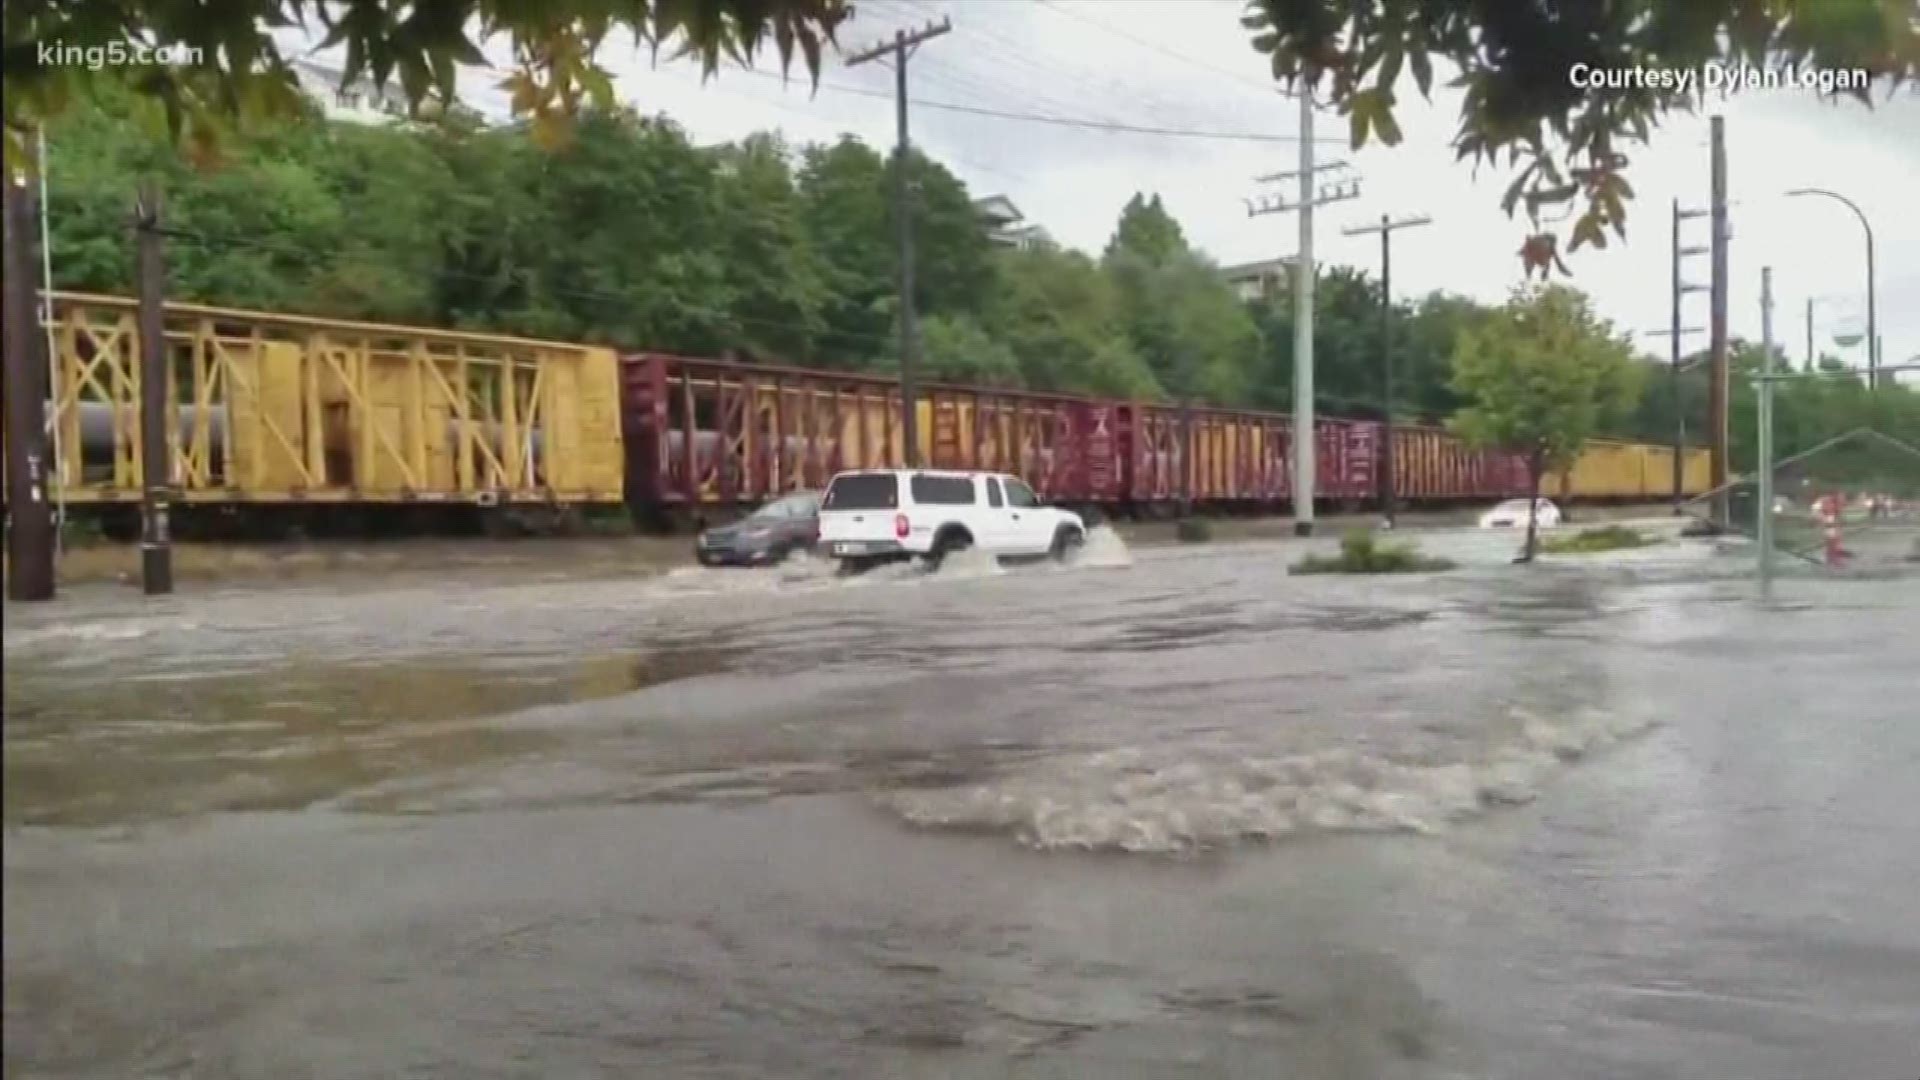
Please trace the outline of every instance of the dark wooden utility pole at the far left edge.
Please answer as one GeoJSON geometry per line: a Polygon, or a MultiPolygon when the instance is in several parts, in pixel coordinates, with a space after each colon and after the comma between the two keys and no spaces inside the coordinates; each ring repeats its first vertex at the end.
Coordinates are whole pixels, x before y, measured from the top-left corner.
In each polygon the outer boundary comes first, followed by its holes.
{"type": "Polygon", "coordinates": [[[36,215],[25,175],[6,179],[6,509],[8,598],[54,600],[54,513],[46,502],[46,386],[36,215]]]}

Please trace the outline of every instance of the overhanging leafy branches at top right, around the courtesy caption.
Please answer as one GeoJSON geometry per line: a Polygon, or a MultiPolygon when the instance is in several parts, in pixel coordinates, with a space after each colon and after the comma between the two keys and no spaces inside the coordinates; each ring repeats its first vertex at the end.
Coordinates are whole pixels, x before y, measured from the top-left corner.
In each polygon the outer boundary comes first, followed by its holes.
{"type": "MultiPolygon", "coordinates": [[[[1645,144],[1674,110],[1709,90],[1590,88],[1590,69],[1701,71],[1707,61],[1803,69],[1864,69],[1882,86],[1920,75],[1912,0],[1620,0],[1613,4],[1488,4],[1484,0],[1250,0],[1242,25],[1273,77],[1319,88],[1348,117],[1357,150],[1394,146],[1402,71],[1428,94],[1436,63],[1465,88],[1453,148],[1461,158],[1519,165],[1503,206],[1524,206],[1528,271],[1565,271],[1549,208],[1584,200],[1572,244],[1626,236],[1626,150],[1645,144]]],[[[1870,102],[1866,88],[1839,88],[1870,102]]]]}

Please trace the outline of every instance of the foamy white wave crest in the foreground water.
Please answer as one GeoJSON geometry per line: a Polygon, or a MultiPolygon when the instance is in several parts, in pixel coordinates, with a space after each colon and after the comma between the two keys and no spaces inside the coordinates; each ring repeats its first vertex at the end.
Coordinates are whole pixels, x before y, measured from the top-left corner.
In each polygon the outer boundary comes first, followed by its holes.
{"type": "Polygon", "coordinates": [[[1649,726],[1611,713],[1513,713],[1476,748],[1407,759],[1350,748],[1123,748],[966,788],[893,792],[881,805],[916,826],[1010,834],[1037,849],[1179,853],[1306,832],[1436,832],[1530,801],[1559,769],[1649,726]]]}

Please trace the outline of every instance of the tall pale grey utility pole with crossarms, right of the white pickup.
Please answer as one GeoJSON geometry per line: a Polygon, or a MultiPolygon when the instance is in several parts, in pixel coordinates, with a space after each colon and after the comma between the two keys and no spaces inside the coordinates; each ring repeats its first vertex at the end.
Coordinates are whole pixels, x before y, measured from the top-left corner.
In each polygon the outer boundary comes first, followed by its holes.
{"type": "Polygon", "coordinates": [[[1284,194],[1246,200],[1248,217],[1300,211],[1300,258],[1294,259],[1294,536],[1313,534],[1313,208],[1359,198],[1359,177],[1346,161],[1313,163],[1313,79],[1300,81],[1300,169],[1260,183],[1300,181],[1296,202],[1284,194]],[[1315,190],[1319,173],[1334,173],[1315,190]]]}

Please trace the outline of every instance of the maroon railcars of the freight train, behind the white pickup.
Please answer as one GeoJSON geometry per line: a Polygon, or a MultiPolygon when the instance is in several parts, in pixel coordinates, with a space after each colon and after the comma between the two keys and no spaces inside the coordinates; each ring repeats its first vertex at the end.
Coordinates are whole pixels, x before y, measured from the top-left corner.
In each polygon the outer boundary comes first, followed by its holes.
{"type": "MultiPolygon", "coordinates": [[[[1292,417],[1283,413],[929,384],[916,423],[929,467],[1016,473],[1060,503],[1284,509],[1292,498],[1292,417]]],[[[1315,429],[1319,498],[1377,502],[1380,423],[1319,417],[1315,429]]],[[[666,354],[622,359],[622,432],[636,509],[756,503],[906,457],[897,379],[666,354]]],[[[1524,463],[1509,454],[1471,452],[1434,427],[1394,434],[1404,502],[1526,486],[1524,463]]]]}

